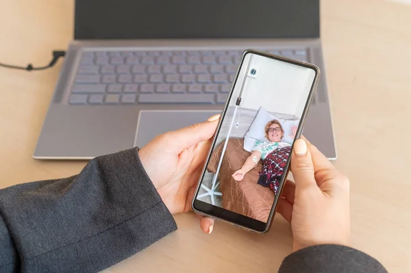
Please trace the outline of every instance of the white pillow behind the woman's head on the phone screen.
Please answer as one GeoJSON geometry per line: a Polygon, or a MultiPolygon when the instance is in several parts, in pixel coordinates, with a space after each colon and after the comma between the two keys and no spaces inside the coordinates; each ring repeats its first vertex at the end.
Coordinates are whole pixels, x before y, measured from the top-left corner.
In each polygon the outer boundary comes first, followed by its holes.
{"type": "Polygon", "coordinates": [[[254,118],[253,122],[251,122],[249,131],[245,133],[243,146],[245,151],[251,153],[251,148],[253,148],[256,140],[266,139],[264,129],[267,122],[269,122],[270,120],[279,120],[280,123],[284,121],[281,118],[277,118],[263,107],[260,107],[260,109],[258,109],[256,118],[254,118]]]}

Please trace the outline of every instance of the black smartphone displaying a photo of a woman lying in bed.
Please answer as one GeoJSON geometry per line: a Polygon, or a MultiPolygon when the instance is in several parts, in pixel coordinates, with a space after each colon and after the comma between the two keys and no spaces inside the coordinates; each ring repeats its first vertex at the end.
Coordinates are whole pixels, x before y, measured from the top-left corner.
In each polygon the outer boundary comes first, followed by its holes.
{"type": "Polygon", "coordinates": [[[248,231],[269,231],[319,76],[313,64],[242,53],[193,211],[248,231]]]}

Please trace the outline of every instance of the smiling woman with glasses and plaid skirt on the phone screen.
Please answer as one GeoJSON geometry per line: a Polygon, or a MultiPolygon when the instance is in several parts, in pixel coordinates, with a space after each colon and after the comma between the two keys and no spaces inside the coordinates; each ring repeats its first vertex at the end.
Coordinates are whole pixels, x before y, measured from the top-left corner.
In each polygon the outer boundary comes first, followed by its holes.
{"type": "MultiPolygon", "coordinates": [[[[292,127],[292,135],[295,138],[297,127],[292,127]]],[[[279,181],[284,174],[288,157],[291,153],[291,144],[282,142],[284,129],[278,120],[271,120],[265,127],[266,140],[256,140],[251,155],[246,159],[240,170],[236,170],[232,177],[236,181],[242,181],[245,174],[255,168],[258,161],[262,159],[262,170],[258,184],[270,187],[275,194],[279,187],[279,181]]]]}

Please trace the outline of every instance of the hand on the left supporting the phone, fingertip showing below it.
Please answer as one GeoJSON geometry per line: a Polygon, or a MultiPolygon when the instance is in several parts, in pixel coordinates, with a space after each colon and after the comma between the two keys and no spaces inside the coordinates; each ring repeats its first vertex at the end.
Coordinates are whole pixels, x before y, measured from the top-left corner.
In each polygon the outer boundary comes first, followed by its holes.
{"type": "MultiPolygon", "coordinates": [[[[212,116],[206,122],[158,135],[138,152],[142,166],[172,214],[191,210],[219,118],[212,116]]],[[[200,218],[203,232],[211,233],[214,220],[200,218]]]]}

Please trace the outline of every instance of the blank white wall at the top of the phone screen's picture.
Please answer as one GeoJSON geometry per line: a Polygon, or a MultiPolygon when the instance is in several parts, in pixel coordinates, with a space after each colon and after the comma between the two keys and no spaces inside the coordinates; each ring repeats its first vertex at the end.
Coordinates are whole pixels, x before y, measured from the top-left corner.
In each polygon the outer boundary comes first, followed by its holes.
{"type": "MultiPolygon", "coordinates": [[[[242,63],[231,105],[236,102],[240,93],[250,56],[251,54],[247,54],[242,63]]],[[[314,70],[259,55],[253,55],[249,69],[251,68],[258,69],[258,75],[256,78],[247,77],[240,106],[249,109],[264,107],[269,112],[291,114],[301,118],[314,78],[314,70]]]]}

